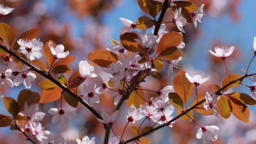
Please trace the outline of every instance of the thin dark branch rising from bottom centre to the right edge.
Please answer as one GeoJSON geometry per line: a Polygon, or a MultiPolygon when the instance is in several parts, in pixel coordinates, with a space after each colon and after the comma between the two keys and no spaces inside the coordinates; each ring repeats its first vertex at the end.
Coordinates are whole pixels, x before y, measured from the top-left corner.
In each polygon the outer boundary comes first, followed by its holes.
{"type": "MultiPolygon", "coordinates": [[[[246,74],[246,75],[244,75],[243,77],[240,77],[239,79],[233,80],[233,81],[229,82],[227,85],[223,86],[221,89],[219,89],[219,90],[218,90],[217,92],[215,92],[214,94],[219,94],[223,89],[227,88],[229,85],[231,85],[231,84],[233,84],[233,83],[235,83],[235,82],[237,82],[237,81],[239,81],[239,80],[241,80],[241,79],[244,79],[244,78],[246,78],[246,77],[253,76],[254,74],[256,74],[256,73],[249,74],[249,75],[246,74]]],[[[212,94],[211,96],[213,96],[214,94],[212,94]]],[[[161,128],[163,128],[164,126],[168,126],[170,123],[174,122],[175,120],[179,119],[179,118],[182,117],[183,115],[187,114],[189,111],[193,110],[193,108],[197,107],[198,105],[202,104],[203,102],[205,102],[205,99],[203,99],[202,101],[198,102],[197,104],[195,104],[195,105],[193,105],[192,107],[190,107],[190,108],[188,108],[187,110],[185,110],[183,113],[179,114],[178,116],[176,116],[176,117],[174,117],[173,119],[171,119],[170,121],[168,121],[168,124],[167,124],[167,123],[164,123],[164,124],[162,124],[162,125],[160,125],[160,126],[158,126],[158,127],[156,127],[156,128],[151,129],[150,131],[147,131],[147,132],[145,132],[145,133],[143,133],[143,134],[141,134],[141,135],[138,135],[137,137],[134,137],[134,138],[131,138],[131,139],[125,141],[123,144],[127,144],[127,143],[130,143],[130,142],[132,142],[132,141],[138,140],[139,138],[144,137],[144,136],[146,136],[146,135],[148,135],[148,134],[150,134],[150,133],[152,133],[152,132],[154,132],[154,131],[156,131],[156,130],[158,130],[158,129],[161,129],[161,128]]],[[[122,144],[122,143],[119,143],[119,144],[122,144]]]]}

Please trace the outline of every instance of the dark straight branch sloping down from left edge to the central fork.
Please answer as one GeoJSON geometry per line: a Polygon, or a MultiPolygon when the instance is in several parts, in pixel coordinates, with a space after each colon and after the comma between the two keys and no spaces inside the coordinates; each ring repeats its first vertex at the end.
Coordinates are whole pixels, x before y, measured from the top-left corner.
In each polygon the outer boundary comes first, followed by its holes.
{"type": "MultiPolygon", "coordinates": [[[[86,108],[88,108],[88,110],[91,111],[92,114],[94,114],[98,119],[103,119],[100,116],[100,114],[97,111],[95,111],[94,108],[91,107],[91,105],[89,105],[85,100],[83,100],[82,98],[80,98],[79,96],[74,94],[70,89],[68,89],[66,86],[64,86],[62,83],[60,83],[58,80],[54,79],[50,74],[46,74],[45,72],[41,71],[39,68],[35,67],[34,65],[29,64],[29,62],[27,62],[25,59],[21,58],[20,56],[16,55],[16,53],[7,49],[5,46],[0,45],[0,48],[3,49],[4,51],[6,51],[7,53],[9,53],[10,55],[12,55],[13,57],[15,57],[16,59],[18,59],[19,61],[21,61],[23,64],[27,65],[28,67],[30,67],[30,65],[31,65],[32,71],[35,71],[38,74],[40,74],[41,76],[45,77],[46,79],[51,80],[53,83],[58,85],[61,89],[63,89],[63,91],[67,92],[68,94],[70,94],[71,96],[76,98],[82,105],[84,105],[86,108]]],[[[106,124],[103,124],[103,125],[106,126],[106,124]]]]}

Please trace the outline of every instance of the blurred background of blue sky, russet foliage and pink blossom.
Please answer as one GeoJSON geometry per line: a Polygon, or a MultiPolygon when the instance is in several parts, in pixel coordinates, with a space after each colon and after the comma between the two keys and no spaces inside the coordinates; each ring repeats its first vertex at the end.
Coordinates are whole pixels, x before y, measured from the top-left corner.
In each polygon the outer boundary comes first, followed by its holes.
{"type": "MultiPolygon", "coordinates": [[[[215,46],[234,45],[234,53],[227,58],[227,65],[231,73],[244,74],[241,69],[246,69],[253,56],[253,37],[256,36],[254,24],[256,1],[249,0],[191,0],[200,6],[205,3],[205,16],[202,24],[194,29],[193,25],[186,25],[184,33],[184,42],[186,47],[182,49],[184,53],[180,62],[180,69],[187,72],[199,71],[206,76],[210,76],[207,83],[199,86],[200,96],[205,92],[212,93],[211,85],[221,85],[226,77],[223,62],[213,57],[209,49],[215,46]]],[[[140,10],[137,0],[0,0],[4,6],[15,7],[13,12],[0,19],[0,22],[9,24],[15,31],[16,37],[26,30],[40,28],[38,38],[43,43],[53,40],[57,44],[63,44],[65,50],[70,51],[70,55],[77,56],[71,67],[73,71],[78,70],[78,62],[87,59],[88,53],[93,50],[106,49],[110,45],[109,37],[115,40],[119,39],[120,28],[123,25],[119,18],[130,19],[136,22],[140,16],[147,14],[140,10]]],[[[165,21],[171,21],[173,15],[168,11],[165,15],[165,21]]],[[[176,26],[167,24],[169,31],[177,31],[176,26]]],[[[43,60],[44,58],[41,58],[43,60]]],[[[252,63],[249,73],[255,73],[255,61],[252,63]]],[[[15,67],[12,65],[11,67],[15,67]]],[[[10,68],[11,68],[10,67],[10,68]]],[[[109,75],[104,74],[98,67],[99,74],[105,83],[109,75]]],[[[161,90],[164,86],[172,85],[173,78],[179,69],[174,68],[174,72],[167,75],[167,67],[162,70],[162,79],[148,77],[146,83],[142,84],[144,89],[161,90]]],[[[2,61],[1,70],[4,64],[2,61]]],[[[37,75],[38,76],[38,75],[37,75]]],[[[69,77],[70,74],[65,74],[69,77]]],[[[33,82],[32,91],[40,92],[37,86],[43,80],[37,77],[33,82]]],[[[87,81],[87,80],[86,80],[87,81]]],[[[89,81],[89,80],[88,80],[89,81]]],[[[87,82],[88,82],[87,81],[87,82]]],[[[244,80],[243,83],[253,85],[252,81],[244,80]]],[[[24,85],[10,89],[4,87],[0,89],[0,95],[17,98],[19,92],[25,89],[24,85]]],[[[250,95],[250,91],[245,86],[229,90],[243,92],[250,95]]],[[[79,87],[79,93],[82,94],[82,86],[79,87]]],[[[194,94],[194,92],[193,92],[194,94]]],[[[146,99],[150,99],[155,94],[145,92],[146,99]]],[[[107,94],[107,91],[101,95],[99,104],[93,104],[98,112],[113,112],[113,96],[107,94]]],[[[191,102],[195,99],[191,96],[191,102]]],[[[60,101],[47,104],[40,104],[40,110],[46,113],[43,120],[43,126],[51,132],[61,132],[61,134],[71,140],[82,138],[88,135],[89,138],[96,137],[96,143],[103,142],[104,129],[94,116],[85,107],[79,105],[72,108],[65,106],[76,113],[76,117],[71,119],[69,125],[52,125],[52,115],[48,110],[53,107],[60,107],[60,101]]],[[[115,122],[114,129],[119,135],[122,134],[126,121],[128,107],[124,104],[119,111],[119,117],[115,122]]],[[[204,126],[216,125],[220,128],[218,131],[218,140],[209,141],[207,144],[255,144],[256,143],[256,108],[250,107],[250,123],[245,124],[238,120],[234,115],[228,120],[222,117],[202,116],[194,111],[195,120],[204,126]]],[[[8,114],[5,110],[3,101],[0,99],[0,113],[8,114]]],[[[176,111],[174,111],[174,116],[176,111]]],[[[133,124],[139,126],[141,122],[133,124]]],[[[132,138],[133,135],[129,129],[125,131],[124,138],[132,138]]],[[[148,126],[144,123],[143,126],[148,126]]],[[[152,144],[201,144],[202,141],[196,139],[196,132],[199,127],[188,120],[177,120],[173,128],[163,128],[149,135],[152,144]]],[[[111,134],[114,137],[113,134],[111,134]]],[[[0,144],[30,144],[25,140],[24,135],[11,131],[9,128],[0,128],[0,144]]]]}

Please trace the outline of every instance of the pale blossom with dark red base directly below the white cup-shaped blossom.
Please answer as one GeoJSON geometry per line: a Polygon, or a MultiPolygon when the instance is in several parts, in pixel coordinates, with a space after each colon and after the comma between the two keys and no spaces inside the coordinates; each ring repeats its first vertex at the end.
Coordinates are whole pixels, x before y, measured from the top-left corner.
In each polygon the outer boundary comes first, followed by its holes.
{"type": "Polygon", "coordinates": [[[95,82],[89,82],[88,86],[83,85],[83,91],[86,92],[88,96],[88,102],[100,102],[100,94],[103,92],[102,87],[98,87],[95,82]]]}

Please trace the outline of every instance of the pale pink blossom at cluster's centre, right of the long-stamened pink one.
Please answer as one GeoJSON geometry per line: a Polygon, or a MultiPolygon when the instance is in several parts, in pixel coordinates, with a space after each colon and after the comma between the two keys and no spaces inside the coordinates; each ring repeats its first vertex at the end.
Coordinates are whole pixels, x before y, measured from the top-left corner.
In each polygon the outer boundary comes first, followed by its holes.
{"type": "Polygon", "coordinates": [[[140,55],[137,55],[136,53],[131,53],[131,55],[128,58],[119,58],[119,61],[125,65],[125,68],[130,69],[134,68],[136,70],[144,70],[144,64],[138,63],[138,61],[142,57],[140,55]]]}

